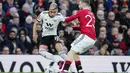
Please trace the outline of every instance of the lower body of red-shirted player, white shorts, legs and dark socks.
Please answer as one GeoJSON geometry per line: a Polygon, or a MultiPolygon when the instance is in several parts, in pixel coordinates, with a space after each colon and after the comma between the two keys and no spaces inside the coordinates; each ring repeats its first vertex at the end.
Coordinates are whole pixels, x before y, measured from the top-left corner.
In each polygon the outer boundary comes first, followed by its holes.
{"type": "Polygon", "coordinates": [[[64,69],[63,71],[66,71],[66,67],[71,64],[72,59],[74,59],[76,61],[76,65],[77,65],[77,71],[82,73],[82,65],[80,62],[80,58],[78,56],[78,53],[83,53],[85,52],[87,49],[85,48],[89,48],[92,47],[93,44],[95,43],[94,40],[92,40],[91,38],[89,38],[88,36],[81,34],[72,44],[71,44],[71,54],[68,53],[68,60],[66,61],[65,65],[64,65],[64,69]],[[73,55],[73,57],[72,57],[73,55]],[[66,66],[66,67],[65,67],[66,66]]]}

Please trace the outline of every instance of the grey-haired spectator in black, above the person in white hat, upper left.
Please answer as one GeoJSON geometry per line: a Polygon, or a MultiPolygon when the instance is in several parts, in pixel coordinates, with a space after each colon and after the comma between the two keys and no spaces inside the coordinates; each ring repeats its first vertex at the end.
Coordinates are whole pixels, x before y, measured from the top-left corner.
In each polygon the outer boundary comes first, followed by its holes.
{"type": "Polygon", "coordinates": [[[19,17],[20,17],[20,26],[23,27],[23,24],[25,23],[25,19],[27,18],[27,16],[31,15],[31,13],[29,12],[29,5],[28,4],[24,4],[22,7],[22,11],[19,11],[19,17]]]}

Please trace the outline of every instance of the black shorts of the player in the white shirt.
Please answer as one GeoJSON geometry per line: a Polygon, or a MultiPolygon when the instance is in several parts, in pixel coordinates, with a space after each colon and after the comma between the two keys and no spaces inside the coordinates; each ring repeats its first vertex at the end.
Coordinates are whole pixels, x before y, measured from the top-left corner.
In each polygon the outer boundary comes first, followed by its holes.
{"type": "Polygon", "coordinates": [[[59,37],[58,36],[44,36],[40,40],[40,45],[46,45],[50,46],[55,45],[56,43],[60,43],[59,37]]]}

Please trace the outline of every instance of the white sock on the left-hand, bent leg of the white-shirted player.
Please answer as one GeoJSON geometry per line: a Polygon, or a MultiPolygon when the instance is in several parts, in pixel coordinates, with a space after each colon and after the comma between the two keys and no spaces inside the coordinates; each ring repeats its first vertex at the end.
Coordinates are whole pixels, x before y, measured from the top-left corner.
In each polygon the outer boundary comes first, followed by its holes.
{"type": "Polygon", "coordinates": [[[49,59],[49,60],[52,60],[53,62],[56,62],[55,61],[55,58],[53,56],[53,54],[47,52],[46,50],[44,49],[39,49],[39,53],[46,59],[49,59]]]}

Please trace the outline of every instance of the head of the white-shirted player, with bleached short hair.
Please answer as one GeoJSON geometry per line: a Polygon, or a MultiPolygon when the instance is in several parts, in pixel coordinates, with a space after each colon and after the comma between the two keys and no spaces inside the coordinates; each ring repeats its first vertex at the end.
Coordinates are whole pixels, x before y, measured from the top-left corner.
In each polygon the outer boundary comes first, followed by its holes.
{"type": "Polygon", "coordinates": [[[56,3],[51,3],[49,7],[50,17],[54,17],[58,13],[58,6],[56,3]]]}

